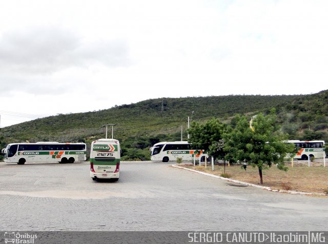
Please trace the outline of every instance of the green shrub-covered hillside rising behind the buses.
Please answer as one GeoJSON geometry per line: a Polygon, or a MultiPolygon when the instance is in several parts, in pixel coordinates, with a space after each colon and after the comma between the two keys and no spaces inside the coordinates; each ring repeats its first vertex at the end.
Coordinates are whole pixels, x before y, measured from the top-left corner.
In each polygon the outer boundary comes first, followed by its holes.
{"type": "MultiPolygon", "coordinates": [[[[125,160],[149,159],[148,148],[159,141],[187,140],[188,116],[194,121],[213,117],[229,122],[236,114],[251,117],[277,109],[279,123],[291,139],[328,141],[328,91],[312,95],[231,95],[218,97],[159,98],[94,112],[50,116],[0,130],[2,146],[11,142],[86,142],[105,137],[104,124],[117,124],[125,160]]],[[[110,133],[109,133],[110,136],[110,133]]]]}

